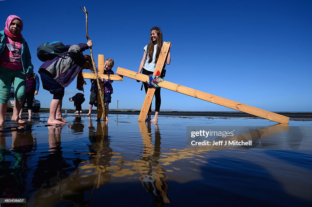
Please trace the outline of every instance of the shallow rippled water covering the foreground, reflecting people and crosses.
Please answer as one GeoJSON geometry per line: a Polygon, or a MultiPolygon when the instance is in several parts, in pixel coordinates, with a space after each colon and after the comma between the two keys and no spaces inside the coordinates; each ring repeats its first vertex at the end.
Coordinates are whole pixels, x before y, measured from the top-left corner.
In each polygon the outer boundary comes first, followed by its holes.
{"type": "Polygon", "coordinates": [[[154,124],[111,115],[105,126],[71,115],[54,127],[47,119],[34,115],[21,129],[6,122],[0,198],[26,198],[20,206],[312,204],[312,121],[160,116],[154,124]],[[234,127],[224,140],[253,145],[190,146],[187,127],[196,126],[234,127]]]}

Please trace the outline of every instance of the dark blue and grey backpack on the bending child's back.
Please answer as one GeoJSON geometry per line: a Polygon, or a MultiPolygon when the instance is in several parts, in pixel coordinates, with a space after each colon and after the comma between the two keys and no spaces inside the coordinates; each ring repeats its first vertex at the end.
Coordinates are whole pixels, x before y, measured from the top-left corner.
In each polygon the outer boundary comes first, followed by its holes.
{"type": "Polygon", "coordinates": [[[51,43],[45,42],[37,48],[37,57],[42,62],[46,62],[47,60],[54,59],[57,55],[69,56],[66,54],[62,54],[68,51],[68,49],[69,47],[64,45],[60,41],[54,41],[51,43]]]}

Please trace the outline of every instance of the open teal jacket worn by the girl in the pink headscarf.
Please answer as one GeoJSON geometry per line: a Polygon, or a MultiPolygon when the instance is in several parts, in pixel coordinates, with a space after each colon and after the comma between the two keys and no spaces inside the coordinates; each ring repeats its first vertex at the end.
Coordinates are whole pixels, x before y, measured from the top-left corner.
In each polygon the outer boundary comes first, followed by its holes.
{"type": "MultiPolygon", "coordinates": [[[[4,30],[0,31],[0,55],[7,44],[7,35],[4,30]]],[[[24,38],[22,38],[22,66],[25,73],[34,73],[34,66],[32,65],[32,57],[29,52],[29,47],[24,38]]]]}

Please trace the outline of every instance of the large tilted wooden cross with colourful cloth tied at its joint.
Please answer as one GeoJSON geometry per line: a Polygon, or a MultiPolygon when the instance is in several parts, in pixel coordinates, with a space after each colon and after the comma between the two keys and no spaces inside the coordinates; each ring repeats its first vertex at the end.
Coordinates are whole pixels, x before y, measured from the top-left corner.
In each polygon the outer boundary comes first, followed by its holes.
{"type": "MultiPolygon", "coordinates": [[[[167,42],[163,43],[163,47],[161,49],[155,70],[154,70],[154,74],[159,71],[161,72],[161,70],[163,69],[163,64],[167,58],[168,55],[168,50],[169,50],[169,44],[167,44],[167,42]]],[[[122,75],[122,76],[126,76],[128,78],[133,78],[135,80],[139,80],[139,81],[147,81],[149,79],[149,76],[141,74],[141,73],[137,73],[131,70],[127,70],[124,68],[117,68],[116,71],[117,74],[122,75]]],[[[283,123],[283,124],[287,124],[289,121],[289,117],[287,116],[283,116],[280,114],[276,114],[270,111],[266,111],[263,109],[259,109],[253,106],[248,106],[246,104],[240,103],[240,102],[236,102],[236,101],[232,101],[226,98],[222,98],[220,96],[215,96],[212,95],[210,93],[205,93],[202,91],[198,91],[192,88],[188,88],[185,86],[181,86],[179,84],[176,83],[172,83],[172,82],[168,82],[168,81],[163,81],[158,83],[158,86],[162,87],[162,88],[166,88],[169,89],[171,91],[175,91],[175,92],[179,92],[188,96],[193,96],[195,98],[199,98],[202,99],[204,101],[209,101],[221,106],[226,106],[228,108],[231,109],[235,109],[237,111],[242,111],[248,114],[252,114],[252,115],[256,115],[259,117],[262,117],[264,119],[268,119],[271,121],[276,121],[278,123],[283,123]]],[[[154,96],[154,92],[155,92],[155,88],[149,88],[147,91],[147,94],[145,96],[144,99],[144,103],[139,115],[139,121],[145,121],[145,118],[147,116],[148,110],[149,110],[149,106],[152,103],[152,99],[154,96]]]]}

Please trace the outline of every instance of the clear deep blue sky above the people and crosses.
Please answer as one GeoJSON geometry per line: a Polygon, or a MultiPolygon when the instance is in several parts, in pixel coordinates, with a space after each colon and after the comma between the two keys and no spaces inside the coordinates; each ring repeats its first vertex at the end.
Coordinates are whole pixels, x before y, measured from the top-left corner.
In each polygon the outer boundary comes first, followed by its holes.
{"type": "MultiPolygon", "coordinates": [[[[311,1],[0,1],[2,28],[7,16],[20,16],[34,71],[42,64],[37,47],[45,41],[85,43],[90,12],[93,54],[117,67],[138,71],[150,28],[159,26],[172,42],[165,80],[269,111],[312,111],[311,1]],[[14,7],[12,4],[14,3],[14,7]]],[[[1,26],[0,26],[1,27],[1,26]]],[[[85,54],[90,54],[86,51],[85,54]]],[[[85,86],[88,108],[90,82],[85,86]]],[[[140,109],[141,83],[124,77],[113,83],[110,108],[140,109]]],[[[79,92],[65,89],[63,108],[79,92]]],[[[162,89],[161,109],[234,111],[162,89]]],[[[49,107],[52,95],[40,86],[35,98],[49,107]]],[[[152,108],[154,108],[154,101],[152,108]]]]}

